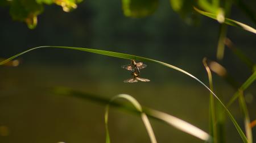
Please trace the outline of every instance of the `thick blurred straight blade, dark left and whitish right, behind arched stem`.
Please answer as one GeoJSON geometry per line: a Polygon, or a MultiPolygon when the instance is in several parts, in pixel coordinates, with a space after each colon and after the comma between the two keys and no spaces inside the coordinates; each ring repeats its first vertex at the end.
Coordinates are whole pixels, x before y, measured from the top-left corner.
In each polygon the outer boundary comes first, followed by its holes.
{"type": "MultiPolygon", "coordinates": [[[[109,99],[103,96],[86,94],[84,92],[80,92],[80,91],[76,91],[76,90],[72,90],[64,87],[59,87],[55,89],[55,93],[60,95],[66,95],[66,96],[75,96],[77,98],[90,100],[92,102],[100,103],[103,105],[109,104],[112,107],[129,111],[131,113],[135,113],[136,115],[141,115],[142,113],[141,111],[135,110],[134,108],[115,102],[115,100],[109,103],[109,99]]],[[[183,131],[185,133],[191,134],[192,136],[200,138],[201,140],[210,142],[212,139],[212,137],[210,137],[208,133],[204,132],[200,128],[197,128],[194,125],[187,123],[186,121],[181,120],[175,116],[169,115],[161,111],[153,110],[151,108],[146,108],[146,107],[142,107],[142,111],[151,119],[163,121],[164,123],[167,123],[172,127],[179,129],[180,131],[183,131]]]]}

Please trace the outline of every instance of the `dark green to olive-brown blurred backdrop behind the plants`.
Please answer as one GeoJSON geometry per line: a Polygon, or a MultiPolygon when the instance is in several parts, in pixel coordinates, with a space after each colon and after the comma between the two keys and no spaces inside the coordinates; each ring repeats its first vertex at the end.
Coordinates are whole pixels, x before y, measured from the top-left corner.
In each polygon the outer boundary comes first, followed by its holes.
{"type": "MultiPolygon", "coordinates": [[[[38,26],[29,30],[14,22],[8,7],[1,7],[0,57],[7,58],[42,45],[96,48],[135,54],[167,62],[208,83],[203,57],[216,58],[219,24],[200,17],[188,24],[160,1],[156,12],[146,18],[127,18],[121,1],[85,1],[66,13],[59,6],[46,6],[38,26]]],[[[236,7],[230,16],[254,26],[236,7]]],[[[256,62],[253,33],[229,27],[228,37],[256,62]]],[[[0,142],[105,142],[104,108],[100,104],[58,96],[52,87],[75,90],[111,98],[125,93],[141,104],[179,117],[208,132],[209,92],[194,79],[161,65],[146,63],[142,77],[148,83],[123,83],[130,73],[121,69],[129,60],[67,49],[39,49],[18,58],[17,67],[0,66],[0,142]]],[[[221,61],[239,82],[251,74],[226,49],[221,61]]],[[[234,90],[217,75],[214,89],[226,103],[234,90]]],[[[251,119],[256,118],[255,83],[245,92],[251,119]]],[[[230,110],[243,127],[238,102],[230,110]]],[[[110,137],[113,142],[150,142],[138,116],[110,111],[110,137]]],[[[151,120],[159,142],[203,142],[159,121],[151,120]]],[[[226,141],[242,142],[236,128],[226,119],[226,141]]],[[[253,129],[254,138],[255,128],[253,129]]]]}

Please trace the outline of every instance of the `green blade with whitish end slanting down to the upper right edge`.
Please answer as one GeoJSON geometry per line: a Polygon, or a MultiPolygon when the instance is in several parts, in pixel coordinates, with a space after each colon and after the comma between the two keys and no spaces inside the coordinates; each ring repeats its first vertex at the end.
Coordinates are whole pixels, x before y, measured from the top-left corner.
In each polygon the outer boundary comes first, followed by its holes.
{"type": "MultiPolygon", "coordinates": [[[[194,7],[194,9],[195,9],[197,12],[199,12],[200,14],[202,14],[202,15],[205,15],[205,16],[208,16],[209,18],[212,18],[212,19],[217,20],[217,15],[216,15],[216,14],[212,14],[212,13],[210,13],[210,12],[206,12],[206,11],[199,10],[199,9],[197,9],[196,7],[194,7]]],[[[225,18],[224,23],[226,23],[226,24],[228,24],[228,25],[230,25],[230,26],[240,27],[240,28],[242,28],[243,30],[256,33],[256,30],[255,30],[253,27],[247,26],[246,24],[243,24],[243,23],[241,23],[241,22],[237,22],[236,20],[232,20],[232,19],[229,19],[229,18],[225,18]]]]}

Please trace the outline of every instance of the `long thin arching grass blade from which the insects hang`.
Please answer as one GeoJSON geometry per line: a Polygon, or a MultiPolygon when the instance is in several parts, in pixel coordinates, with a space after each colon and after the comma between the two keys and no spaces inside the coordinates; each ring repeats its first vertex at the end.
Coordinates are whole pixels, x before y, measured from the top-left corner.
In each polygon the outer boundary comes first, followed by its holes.
{"type": "Polygon", "coordinates": [[[102,50],[89,49],[89,48],[60,47],[60,46],[42,46],[42,47],[36,47],[36,48],[28,49],[27,51],[21,52],[19,54],[16,54],[13,57],[7,58],[7,60],[0,62],[0,65],[3,65],[6,62],[9,62],[10,60],[13,60],[14,58],[16,58],[16,57],[18,57],[18,56],[20,56],[20,55],[22,55],[24,53],[27,53],[27,52],[30,52],[30,51],[32,51],[34,49],[39,49],[39,48],[72,49],[72,50],[77,50],[77,51],[85,51],[85,52],[90,52],[90,53],[102,54],[102,55],[106,55],[106,56],[110,56],[110,57],[118,57],[118,58],[130,59],[130,60],[133,59],[133,60],[139,60],[139,61],[154,62],[155,64],[164,65],[164,66],[167,66],[168,68],[171,68],[171,69],[177,70],[177,71],[179,71],[181,73],[184,73],[184,74],[188,75],[189,77],[195,79],[199,83],[201,83],[201,85],[203,85],[207,90],[209,90],[215,96],[215,98],[218,100],[218,102],[221,104],[221,106],[224,107],[225,111],[228,113],[229,118],[232,120],[232,122],[233,122],[234,126],[236,127],[238,133],[240,134],[243,142],[247,142],[247,138],[246,138],[245,134],[243,134],[242,129],[237,124],[237,121],[234,119],[233,115],[229,112],[228,108],[226,108],[226,106],[221,102],[221,100],[218,98],[218,96],[216,94],[214,94],[214,92],[212,90],[210,90],[207,85],[205,85],[202,81],[200,81],[200,79],[196,78],[194,75],[186,72],[183,69],[177,68],[174,65],[166,64],[166,63],[161,62],[161,61],[152,60],[150,58],[134,56],[134,55],[131,55],[131,54],[124,54],[124,53],[117,53],[117,52],[110,52],[110,51],[102,51],[102,50]]]}

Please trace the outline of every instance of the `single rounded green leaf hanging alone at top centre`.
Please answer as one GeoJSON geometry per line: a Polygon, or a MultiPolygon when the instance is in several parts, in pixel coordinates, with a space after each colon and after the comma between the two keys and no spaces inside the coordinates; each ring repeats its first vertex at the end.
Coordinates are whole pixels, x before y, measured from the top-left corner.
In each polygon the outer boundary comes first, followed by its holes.
{"type": "Polygon", "coordinates": [[[153,14],[158,4],[159,0],[122,0],[123,14],[141,18],[153,14]]]}

